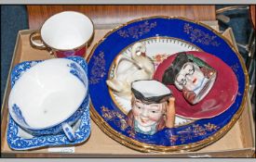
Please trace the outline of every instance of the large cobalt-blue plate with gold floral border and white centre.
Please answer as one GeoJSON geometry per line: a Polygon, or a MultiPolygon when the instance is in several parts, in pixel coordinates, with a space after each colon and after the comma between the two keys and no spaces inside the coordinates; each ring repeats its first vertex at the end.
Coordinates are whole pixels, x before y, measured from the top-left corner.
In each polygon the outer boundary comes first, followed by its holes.
{"type": "Polygon", "coordinates": [[[88,78],[93,120],[115,141],[142,152],[196,150],[217,141],[240,116],[248,91],[248,74],[234,47],[208,26],[181,18],[136,19],[110,31],[88,57],[88,78]],[[146,44],[146,54],[155,60],[156,67],[181,51],[204,51],[219,57],[236,74],[234,103],[213,118],[178,118],[175,128],[154,135],[132,131],[126,122],[129,102],[109,90],[106,80],[113,77],[116,56],[129,55],[136,42],[146,44]]]}

